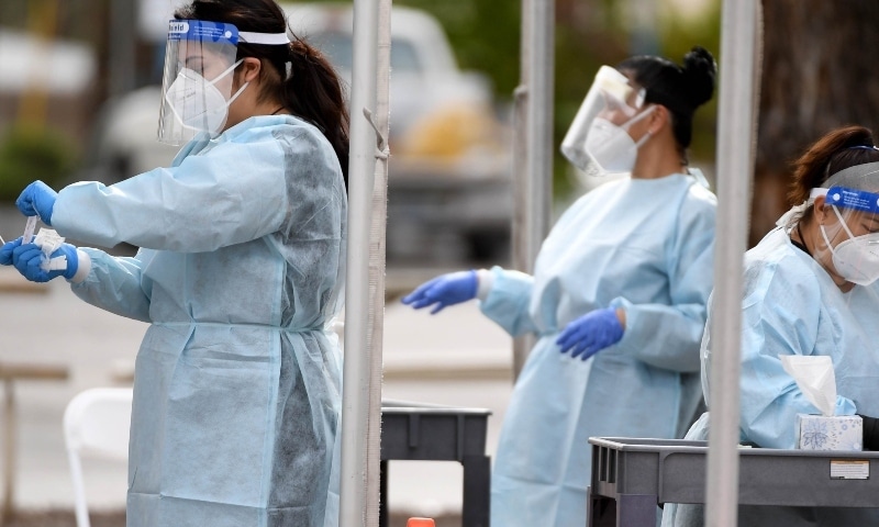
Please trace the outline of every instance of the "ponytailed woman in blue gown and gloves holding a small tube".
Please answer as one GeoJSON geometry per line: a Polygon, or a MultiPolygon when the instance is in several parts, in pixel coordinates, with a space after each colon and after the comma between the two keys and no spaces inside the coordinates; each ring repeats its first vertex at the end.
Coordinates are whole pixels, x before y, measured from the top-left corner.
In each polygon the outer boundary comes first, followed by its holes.
{"type": "Polygon", "coordinates": [[[57,194],[36,181],[16,201],[62,236],[136,256],[65,244],[48,255],[59,269],[19,238],[0,262],[151,324],[134,374],[130,527],[333,525],[341,85],[288,38],[274,0],[196,0],[175,19],[158,134],[189,142],[171,166],[57,194]]]}

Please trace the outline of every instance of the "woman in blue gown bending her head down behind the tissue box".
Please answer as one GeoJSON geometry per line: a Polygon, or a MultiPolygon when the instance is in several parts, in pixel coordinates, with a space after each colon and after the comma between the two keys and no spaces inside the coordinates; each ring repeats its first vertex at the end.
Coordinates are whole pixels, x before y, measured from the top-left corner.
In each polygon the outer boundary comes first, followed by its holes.
{"type": "MultiPolygon", "coordinates": [[[[864,447],[879,450],[879,149],[874,141],[869,130],[847,126],[811,145],[793,164],[789,199],[795,206],[745,255],[739,415],[744,444],[797,447],[797,414],[820,412],[782,369],[779,357],[830,356],[836,415],[861,415],[864,447]]],[[[710,329],[709,323],[702,343],[705,395],[710,329]]],[[[708,425],[705,413],[687,438],[708,439],[708,425]]],[[[875,508],[738,511],[743,526],[879,525],[875,508]]],[[[663,525],[701,526],[703,507],[666,504],[663,525]]]]}

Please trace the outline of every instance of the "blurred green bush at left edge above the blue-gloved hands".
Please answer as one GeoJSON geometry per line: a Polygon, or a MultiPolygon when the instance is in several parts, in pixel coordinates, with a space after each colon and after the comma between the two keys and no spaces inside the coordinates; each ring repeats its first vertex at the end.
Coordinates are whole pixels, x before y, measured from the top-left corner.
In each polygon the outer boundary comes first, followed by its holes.
{"type": "Polygon", "coordinates": [[[14,201],[35,179],[58,188],[76,168],[76,150],[64,134],[19,124],[0,136],[0,201],[14,201]]]}

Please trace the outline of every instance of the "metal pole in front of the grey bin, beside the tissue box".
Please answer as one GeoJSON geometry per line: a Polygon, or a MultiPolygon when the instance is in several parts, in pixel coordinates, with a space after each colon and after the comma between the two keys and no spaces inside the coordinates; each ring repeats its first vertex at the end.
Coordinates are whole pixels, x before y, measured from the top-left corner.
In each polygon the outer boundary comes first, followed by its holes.
{"type": "Polygon", "coordinates": [[[754,172],[756,0],[723,2],[717,120],[717,244],[711,360],[705,525],[735,526],[738,516],[738,419],[742,259],[747,247],[754,172]]]}

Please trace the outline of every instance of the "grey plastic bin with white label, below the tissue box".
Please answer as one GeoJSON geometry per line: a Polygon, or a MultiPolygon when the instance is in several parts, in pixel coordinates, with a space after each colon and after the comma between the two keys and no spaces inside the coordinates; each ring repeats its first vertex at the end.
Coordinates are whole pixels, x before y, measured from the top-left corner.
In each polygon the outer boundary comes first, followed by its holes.
{"type": "MultiPolygon", "coordinates": [[[[706,441],[590,437],[589,527],[654,527],[663,503],[704,503],[706,441]]],[[[738,503],[879,507],[879,451],[742,448],[738,503]]]]}

